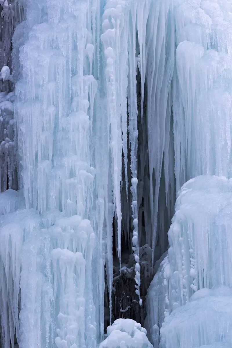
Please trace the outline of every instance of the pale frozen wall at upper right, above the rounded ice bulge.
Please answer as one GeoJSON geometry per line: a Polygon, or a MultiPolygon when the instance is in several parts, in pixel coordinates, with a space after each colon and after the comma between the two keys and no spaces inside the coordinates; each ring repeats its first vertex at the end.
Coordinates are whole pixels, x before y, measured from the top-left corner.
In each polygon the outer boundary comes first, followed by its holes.
{"type": "Polygon", "coordinates": [[[231,176],[231,3],[177,1],[173,130],[176,190],[231,176]]]}

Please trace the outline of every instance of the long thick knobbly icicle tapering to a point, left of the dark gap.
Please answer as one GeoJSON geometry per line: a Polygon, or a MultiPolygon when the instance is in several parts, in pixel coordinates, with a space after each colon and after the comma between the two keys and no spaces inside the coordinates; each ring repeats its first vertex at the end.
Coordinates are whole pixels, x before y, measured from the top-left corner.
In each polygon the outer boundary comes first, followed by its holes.
{"type": "MultiPolygon", "coordinates": [[[[117,215],[118,226],[118,255],[121,268],[121,155],[123,142],[126,144],[126,128],[125,123],[127,121],[126,112],[126,89],[127,89],[127,59],[128,54],[125,49],[122,50],[120,41],[127,43],[127,26],[125,25],[126,4],[121,1],[120,4],[111,1],[106,3],[104,14],[102,17],[102,30],[101,40],[104,45],[104,53],[106,60],[106,88],[108,99],[108,112],[109,112],[109,127],[110,127],[110,149],[112,155],[112,171],[113,171],[113,190],[114,190],[114,205],[117,215]],[[112,7],[113,6],[113,7],[112,7]],[[124,26],[125,25],[125,26],[124,26]],[[123,56],[121,56],[123,55],[123,56]],[[122,61],[121,61],[122,59],[122,61]],[[122,71],[123,76],[118,74],[119,65],[123,62],[122,71]],[[121,90],[125,90],[123,99],[121,99],[121,90]],[[122,123],[121,123],[122,118],[122,123]],[[122,126],[123,124],[123,126],[122,126]],[[123,141],[122,135],[123,134],[123,141]]],[[[124,153],[125,166],[127,163],[126,155],[124,153]]],[[[126,167],[125,167],[126,168],[126,167]]],[[[125,170],[127,173],[127,169],[125,170]]]]}

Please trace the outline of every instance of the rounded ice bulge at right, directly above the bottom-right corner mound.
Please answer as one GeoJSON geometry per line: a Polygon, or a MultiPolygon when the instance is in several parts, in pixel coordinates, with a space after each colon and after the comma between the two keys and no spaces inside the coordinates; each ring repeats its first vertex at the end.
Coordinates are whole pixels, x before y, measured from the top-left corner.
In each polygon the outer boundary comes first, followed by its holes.
{"type": "Polygon", "coordinates": [[[185,183],[168,232],[179,303],[203,287],[232,286],[232,180],[199,176],[185,183]]]}

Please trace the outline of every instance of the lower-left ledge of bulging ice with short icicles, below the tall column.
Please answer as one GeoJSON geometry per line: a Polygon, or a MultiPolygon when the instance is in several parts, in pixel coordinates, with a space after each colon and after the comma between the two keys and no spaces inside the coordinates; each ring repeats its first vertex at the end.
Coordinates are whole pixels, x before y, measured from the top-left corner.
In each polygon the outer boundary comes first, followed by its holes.
{"type": "MultiPolygon", "coordinates": [[[[6,194],[12,198],[9,190],[1,193],[6,194]]],[[[9,338],[14,340],[13,326],[23,347],[37,344],[51,347],[53,338],[58,347],[63,347],[65,341],[69,342],[67,347],[75,342],[80,347],[86,343],[94,347],[96,324],[91,297],[94,234],[90,221],[75,215],[67,218],[58,211],[39,216],[34,209],[24,209],[2,215],[0,223],[3,280],[0,314],[5,347],[9,338]],[[57,317],[56,338],[53,311],[57,317]]]]}

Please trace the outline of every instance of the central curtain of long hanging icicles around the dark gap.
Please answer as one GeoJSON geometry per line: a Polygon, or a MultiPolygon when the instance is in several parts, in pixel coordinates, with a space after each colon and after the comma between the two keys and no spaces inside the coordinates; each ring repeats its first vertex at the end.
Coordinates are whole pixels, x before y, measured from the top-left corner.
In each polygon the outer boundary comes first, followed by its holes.
{"type": "MultiPolygon", "coordinates": [[[[125,201],[120,201],[119,194],[116,198],[115,188],[118,187],[118,193],[120,190],[120,177],[117,178],[117,173],[121,168],[121,155],[119,153],[124,152],[124,164],[126,175],[126,190],[127,190],[127,129],[126,123],[128,118],[128,134],[129,134],[129,146],[130,146],[130,169],[131,169],[131,207],[132,207],[132,219],[131,222],[134,226],[133,250],[136,259],[136,292],[139,295],[140,284],[140,266],[139,266],[139,236],[138,230],[138,212],[142,203],[142,196],[139,196],[138,206],[138,193],[137,185],[141,186],[137,180],[137,156],[142,158],[142,165],[144,164],[145,153],[137,154],[138,144],[138,129],[137,129],[137,79],[136,76],[141,76],[141,122],[143,118],[143,106],[146,105],[146,123],[148,132],[148,151],[149,151],[149,185],[150,193],[143,193],[144,200],[147,201],[147,197],[150,197],[149,207],[151,207],[151,213],[147,213],[145,221],[146,229],[146,243],[152,246],[153,256],[152,263],[155,256],[155,245],[157,239],[160,239],[160,252],[164,252],[166,245],[166,238],[164,234],[157,234],[157,230],[163,230],[165,225],[164,215],[158,214],[158,197],[160,192],[160,181],[162,168],[165,168],[165,182],[166,182],[166,202],[163,200],[164,205],[160,207],[166,209],[168,206],[168,216],[171,217],[173,205],[174,205],[174,167],[172,161],[169,159],[171,153],[171,145],[169,141],[170,127],[171,127],[171,98],[170,98],[170,83],[174,69],[174,25],[173,18],[171,17],[172,5],[169,1],[161,2],[157,1],[155,4],[152,1],[147,2],[128,2],[124,1],[106,3],[103,24],[102,24],[102,41],[104,44],[104,53],[106,60],[106,77],[107,77],[107,98],[109,105],[109,117],[110,124],[114,123],[114,126],[110,128],[111,139],[111,152],[113,155],[114,170],[114,201],[120,202],[120,205],[124,207],[125,201]],[[109,16],[111,18],[109,19],[109,16]],[[170,18],[169,18],[170,17],[170,18]],[[170,21],[169,21],[170,19],[170,21]],[[144,31],[143,28],[147,27],[144,31]],[[153,35],[156,33],[156,35],[153,35]],[[127,47],[127,49],[126,49],[127,47]],[[168,47],[168,52],[165,52],[168,47]],[[165,57],[168,57],[167,59],[165,57]],[[149,62],[149,63],[148,63],[149,62]],[[152,64],[150,63],[152,62],[152,64]],[[118,73],[116,73],[119,71],[118,73]],[[164,74],[164,71],[167,74],[164,74]],[[108,77],[109,75],[109,77],[108,77]],[[145,79],[145,76],[147,78],[145,79]],[[144,86],[149,91],[144,95],[144,86]],[[125,98],[127,87],[127,101],[125,98]],[[123,92],[124,91],[124,92],[123,92]],[[156,95],[157,100],[153,102],[153,96],[156,95]],[[160,97],[160,95],[162,97],[160,97]],[[115,96],[115,97],[113,97],[115,96]],[[126,105],[126,103],[128,105],[126,105]],[[153,110],[154,108],[154,110],[153,110]],[[127,109],[127,111],[126,111],[127,109]],[[127,115],[128,112],[128,115],[127,115]],[[158,118],[157,118],[158,115],[158,118]],[[155,122],[157,122],[156,127],[155,122]],[[164,127],[163,127],[164,126],[164,127]],[[116,129],[116,131],[115,131],[116,129]],[[162,133],[162,135],[161,135],[162,133]],[[122,134],[122,137],[121,137],[122,134]],[[115,148],[115,139],[118,137],[117,147],[115,148]],[[159,139],[162,139],[160,142],[159,139]],[[122,147],[118,152],[118,146],[122,147]],[[122,150],[122,151],[121,151],[122,150]],[[154,162],[155,161],[155,162],[154,162]],[[157,170],[157,168],[159,169],[157,170]],[[154,176],[155,174],[155,176],[154,176]],[[158,215],[160,218],[158,219],[158,215]],[[159,220],[159,221],[158,221],[159,220]],[[158,224],[159,222],[159,224],[158,224]]],[[[143,148],[142,148],[143,150],[143,148]]],[[[141,166],[142,166],[141,165],[141,166]]],[[[143,180],[143,178],[142,178],[143,180]]],[[[144,188],[147,189],[146,185],[144,188]]],[[[125,195],[125,197],[127,197],[125,195]]],[[[118,235],[118,252],[120,254],[120,221],[121,210],[117,210],[117,235],[118,235]]],[[[141,210],[140,210],[141,212],[141,210]]],[[[123,216],[123,226],[127,230],[128,212],[123,216]]],[[[127,231],[126,231],[127,232],[127,231]]],[[[158,257],[160,254],[158,255],[158,257]]]]}

